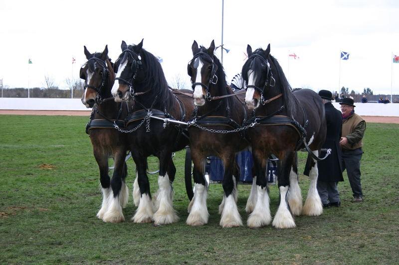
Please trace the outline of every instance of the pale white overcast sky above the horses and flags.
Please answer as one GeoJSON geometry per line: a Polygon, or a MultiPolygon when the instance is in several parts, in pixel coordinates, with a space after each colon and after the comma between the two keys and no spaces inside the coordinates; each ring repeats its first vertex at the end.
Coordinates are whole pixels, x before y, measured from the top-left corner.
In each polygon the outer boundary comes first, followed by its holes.
{"type": "MultiPolygon", "coordinates": [[[[221,0],[2,1],[0,78],[10,88],[32,88],[44,87],[49,76],[66,88],[65,79],[77,79],[85,62],[83,45],[93,53],[108,44],[115,61],[122,40],[144,38],[144,48],[163,58],[171,84],[176,76],[189,82],[193,41],[221,43],[221,10],[221,0]]],[[[391,93],[393,67],[399,94],[399,64],[392,64],[392,53],[399,55],[398,14],[398,0],[225,0],[226,80],[241,71],[247,44],[270,43],[293,88],[391,93]],[[350,53],[348,61],[340,60],[341,50],[350,53]]]]}

